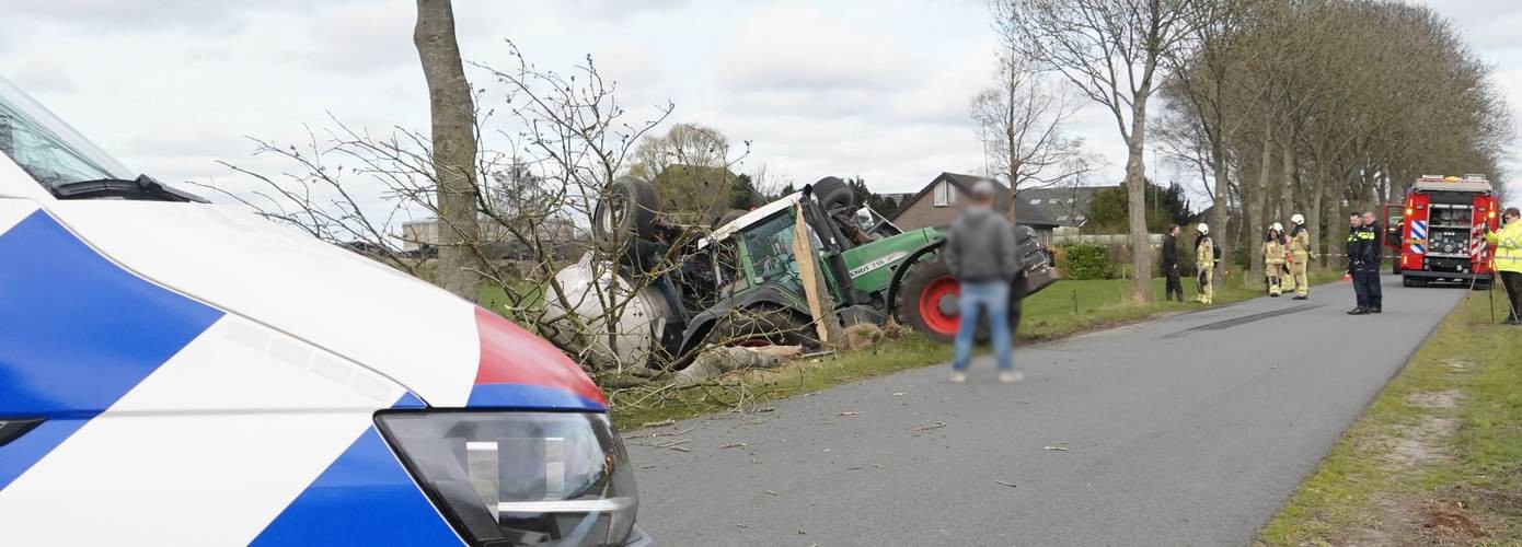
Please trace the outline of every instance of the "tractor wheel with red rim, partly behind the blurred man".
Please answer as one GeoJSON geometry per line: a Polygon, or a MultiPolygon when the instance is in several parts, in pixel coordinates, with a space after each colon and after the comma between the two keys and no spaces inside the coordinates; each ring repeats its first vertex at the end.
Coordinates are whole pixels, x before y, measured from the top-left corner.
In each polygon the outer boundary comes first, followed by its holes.
{"type": "MultiPolygon", "coordinates": [[[[898,287],[893,315],[898,322],[924,333],[931,340],[951,342],[962,327],[960,310],[956,308],[956,296],[962,292],[962,284],[951,277],[941,257],[931,257],[909,266],[903,286],[898,287]]],[[[1021,319],[1021,299],[1011,292],[1009,298],[1009,330],[1017,331],[1021,319]]],[[[980,322],[973,336],[977,343],[989,339],[988,324],[980,322]]]]}

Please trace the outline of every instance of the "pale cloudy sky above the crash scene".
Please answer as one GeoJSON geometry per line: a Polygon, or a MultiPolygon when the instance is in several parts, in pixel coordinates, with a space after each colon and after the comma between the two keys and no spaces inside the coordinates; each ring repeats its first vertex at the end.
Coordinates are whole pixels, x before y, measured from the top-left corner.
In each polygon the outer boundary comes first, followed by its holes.
{"type": "MultiPolygon", "coordinates": [[[[1502,88],[1522,85],[1522,3],[1425,3],[1496,65],[1502,88]]],[[[245,135],[300,141],[329,114],[377,131],[428,126],[412,2],[6,0],[3,11],[0,76],[163,181],[247,188],[215,161],[274,169],[245,135]]],[[[626,106],[673,102],[671,120],[749,140],[741,169],[798,182],[860,175],[877,191],[983,169],[968,99],[992,70],[985,0],[455,0],[455,12],[467,61],[504,64],[504,38],[546,68],[592,55],[626,106]]],[[[1071,131],[1108,158],[1093,184],[1119,179],[1108,112],[1088,108],[1071,131]]]]}

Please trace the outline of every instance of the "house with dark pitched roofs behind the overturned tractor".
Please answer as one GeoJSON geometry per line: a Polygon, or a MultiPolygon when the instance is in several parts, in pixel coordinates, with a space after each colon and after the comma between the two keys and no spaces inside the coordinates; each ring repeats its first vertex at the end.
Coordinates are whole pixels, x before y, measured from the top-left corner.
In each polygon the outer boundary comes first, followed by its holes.
{"type": "MultiPolygon", "coordinates": [[[[927,226],[945,226],[962,214],[968,204],[968,191],[973,184],[988,179],[979,175],[941,173],[918,193],[907,194],[898,211],[889,217],[903,229],[919,229],[927,226]]],[[[998,187],[995,208],[1009,210],[1009,187],[992,181],[998,187]]],[[[1102,187],[1052,187],[1020,190],[1015,202],[1015,222],[1030,226],[1049,240],[1052,229],[1058,226],[1082,226],[1088,222],[1088,204],[1102,187]]]]}

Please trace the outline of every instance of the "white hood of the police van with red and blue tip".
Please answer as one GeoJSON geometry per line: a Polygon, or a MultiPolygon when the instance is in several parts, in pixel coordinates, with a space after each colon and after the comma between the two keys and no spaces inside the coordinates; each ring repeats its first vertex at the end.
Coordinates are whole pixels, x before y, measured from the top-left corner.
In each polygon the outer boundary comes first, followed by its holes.
{"type": "Polygon", "coordinates": [[[606,410],[581,368],[537,336],[247,207],[17,202],[142,278],[327,349],[423,404],[606,410]]]}

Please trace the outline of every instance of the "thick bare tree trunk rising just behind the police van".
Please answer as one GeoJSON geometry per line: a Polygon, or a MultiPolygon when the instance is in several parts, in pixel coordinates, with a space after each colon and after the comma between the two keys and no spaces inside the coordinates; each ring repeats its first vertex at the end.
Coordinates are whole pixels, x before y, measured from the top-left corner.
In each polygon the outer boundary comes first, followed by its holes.
{"type": "Polygon", "coordinates": [[[438,185],[437,283],[460,298],[479,299],[481,226],[476,222],[476,135],[470,82],[455,41],[449,0],[417,0],[412,44],[428,79],[432,114],[434,176],[438,185]]]}

